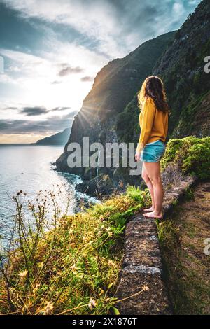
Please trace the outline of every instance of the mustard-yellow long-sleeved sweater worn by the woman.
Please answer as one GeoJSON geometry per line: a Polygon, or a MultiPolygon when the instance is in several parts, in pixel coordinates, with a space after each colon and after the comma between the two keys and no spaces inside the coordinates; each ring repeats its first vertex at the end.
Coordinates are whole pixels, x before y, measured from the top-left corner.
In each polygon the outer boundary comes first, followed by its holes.
{"type": "Polygon", "coordinates": [[[158,111],[151,97],[146,97],[143,109],[139,114],[141,134],[137,146],[137,152],[141,152],[144,146],[153,141],[165,142],[168,132],[168,112],[158,111]]]}

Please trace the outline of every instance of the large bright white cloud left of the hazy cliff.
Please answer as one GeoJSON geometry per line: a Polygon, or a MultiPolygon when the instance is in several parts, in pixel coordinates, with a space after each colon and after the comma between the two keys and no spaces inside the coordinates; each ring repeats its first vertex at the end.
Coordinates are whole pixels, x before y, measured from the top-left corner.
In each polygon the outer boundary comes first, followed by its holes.
{"type": "Polygon", "coordinates": [[[29,106],[41,104],[46,108],[67,104],[73,111],[80,110],[92,83],[87,82],[85,86],[82,86],[81,73],[78,72],[84,70],[87,76],[95,76],[107,61],[101,55],[95,55],[94,52],[81,45],[62,43],[57,40],[53,40],[53,45],[54,52],[41,50],[38,55],[0,48],[9,66],[18,66],[20,69],[15,73],[6,70],[5,75],[0,75],[0,83],[2,81],[9,90],[6,94],[0,88],[1,100],[2,96],[6,101],[10,99],[14,102],[15,98],[18,103],[24,102],[29,106]],[[72,64],[68,64],[68,60],[72,64]],[[64,63],[68,65],[64,66],[64,63]],[[60,76],[58,76],[58,68],[60,76]]]}

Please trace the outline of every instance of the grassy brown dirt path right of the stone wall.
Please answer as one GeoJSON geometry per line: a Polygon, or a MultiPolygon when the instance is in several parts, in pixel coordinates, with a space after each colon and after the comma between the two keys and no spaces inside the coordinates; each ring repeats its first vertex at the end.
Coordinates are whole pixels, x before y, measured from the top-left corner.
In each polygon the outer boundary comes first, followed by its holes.
{"type": "Polygon", "coordinates": [[[174,313],[210,314],[210,255],[204,253],[210,239],[210,182],[187,193],[162,223],[160,238],[174,313]]]}

